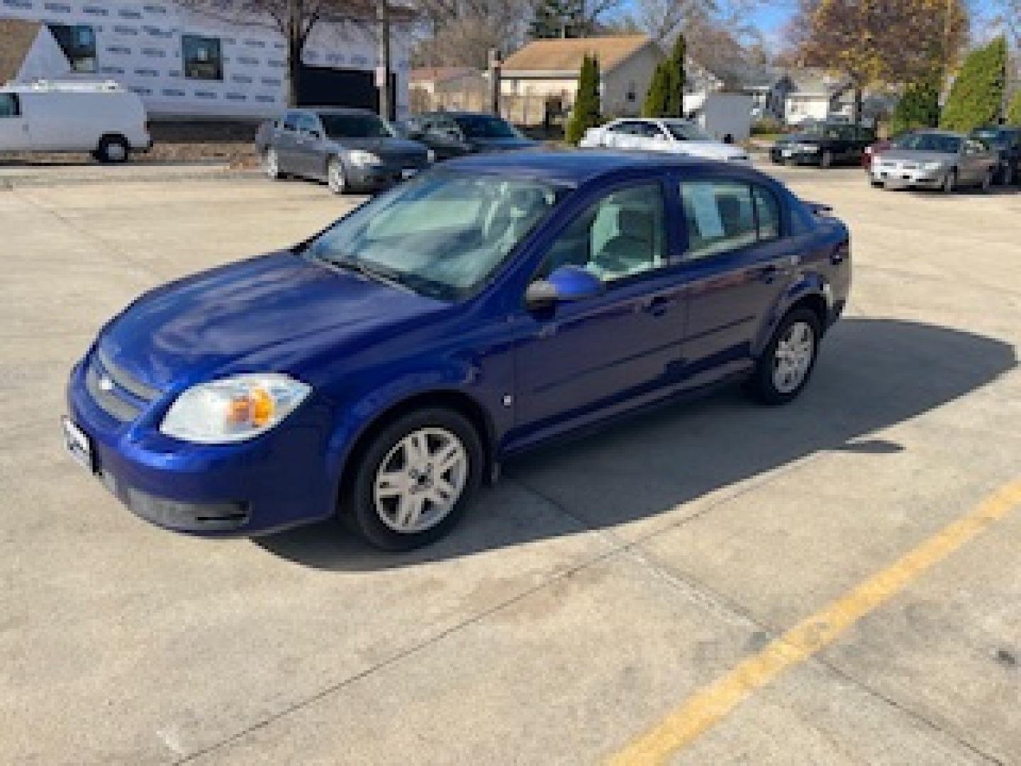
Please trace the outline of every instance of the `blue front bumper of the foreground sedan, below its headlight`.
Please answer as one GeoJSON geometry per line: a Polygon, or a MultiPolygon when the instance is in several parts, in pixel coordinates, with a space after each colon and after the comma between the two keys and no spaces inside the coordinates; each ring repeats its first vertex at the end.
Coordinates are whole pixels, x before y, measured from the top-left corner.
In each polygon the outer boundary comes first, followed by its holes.
{"type": "Polygon", "coordinates": [[[306,401],[273,431],[233,444],[192,444],[159,433],[169,398],[118,419],[71,371],[68,420],[91,447],[92,473],[135,515],[202,536],[248,536],[329,518],[338,472],[328,465],[325,405],[306,401]]]}

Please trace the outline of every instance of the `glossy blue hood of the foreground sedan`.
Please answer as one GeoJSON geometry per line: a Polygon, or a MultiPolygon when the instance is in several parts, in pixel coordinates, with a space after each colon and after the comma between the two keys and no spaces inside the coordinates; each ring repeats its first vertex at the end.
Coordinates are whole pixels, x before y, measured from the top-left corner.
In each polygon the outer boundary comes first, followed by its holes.
{"type": "Polygon", "coordinates": [[[314,381],[322,353],[352,352],[449,304],[290,251],[203,272],[146,293],[100,334],[139,380],[171,388],[237,372],[314,381]]]}

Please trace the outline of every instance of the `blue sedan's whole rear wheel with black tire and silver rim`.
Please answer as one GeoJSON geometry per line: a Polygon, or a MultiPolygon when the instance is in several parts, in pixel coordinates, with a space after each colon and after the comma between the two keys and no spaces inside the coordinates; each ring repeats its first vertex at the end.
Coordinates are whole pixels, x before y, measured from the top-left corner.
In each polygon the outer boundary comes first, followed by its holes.
{"type": "Polygon", "coordinates": [[[780,321],[745,383],[747,392],[764,404],[786,404],[795,399],[812,377],[821,337],[822,327],[815,312],[809,308],[789,312],[780,321]]]}

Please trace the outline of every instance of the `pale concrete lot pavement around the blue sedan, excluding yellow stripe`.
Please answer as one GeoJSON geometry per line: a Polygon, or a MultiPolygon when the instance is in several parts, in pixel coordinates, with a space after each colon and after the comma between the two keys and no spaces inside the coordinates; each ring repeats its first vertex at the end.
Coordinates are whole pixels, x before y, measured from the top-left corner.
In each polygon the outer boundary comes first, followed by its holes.
{"type": "MultiPolygon", "coordinates": [[[[153,529],[57,433],[112,313],[346,202],[256,180],[0,189],[0,762],[599,762],[1018,478],[1021,194],[778,172],[854,235],[805,396],[724,391],[536,452],[397,557],[333,525],[153,529]]],[[[677,762],[1021,762],[1019,544],[1008,515],[677,762]]]]}

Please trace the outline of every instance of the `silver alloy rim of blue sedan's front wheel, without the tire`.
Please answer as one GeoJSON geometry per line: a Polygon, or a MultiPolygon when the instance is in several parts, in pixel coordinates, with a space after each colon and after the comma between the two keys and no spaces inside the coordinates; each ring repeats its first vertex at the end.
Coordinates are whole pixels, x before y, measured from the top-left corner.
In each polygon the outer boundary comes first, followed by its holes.
{"type": "Polygon", "coordinates": [[[468,451],[444,428],[421,428],[398,441],[373,482],[376,513],[389,529],[424,532],[453,510],[468,481],[468,451]]]}

